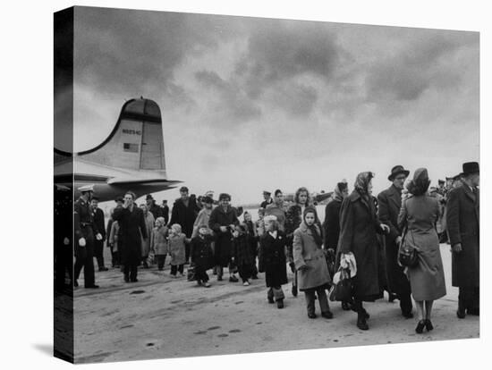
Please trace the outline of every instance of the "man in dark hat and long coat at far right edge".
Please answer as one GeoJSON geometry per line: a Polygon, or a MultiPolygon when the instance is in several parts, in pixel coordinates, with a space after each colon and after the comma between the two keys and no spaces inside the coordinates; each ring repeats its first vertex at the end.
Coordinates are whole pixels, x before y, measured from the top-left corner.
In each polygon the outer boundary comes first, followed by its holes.
{"type": "Polygon", "coordinates": [[[446,219],[453,286],[459,288],[456,315],[464,318],[466,314],[479,315],[479,164],[463,164],[461,178],[462,186],[448,194],[446,219]]]}

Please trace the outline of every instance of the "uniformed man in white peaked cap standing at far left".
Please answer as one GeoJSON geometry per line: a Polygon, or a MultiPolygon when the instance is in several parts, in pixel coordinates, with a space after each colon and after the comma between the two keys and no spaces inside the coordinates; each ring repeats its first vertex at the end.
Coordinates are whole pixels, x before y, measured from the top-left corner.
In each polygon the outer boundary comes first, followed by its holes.
{"type": "Polygon", "coordinates": [[[73,229],[77,241],[73,285],[79,286],[77,280],[83,267],[84,287],[99,288],[95,284],[96,278],[94,276],[94,235],[96,235],[96,240],[103,240],[103,237],[99,233],[96,223],[94,223],[94,217],[89,206],[94,185],[84,185],[78,190],[81,192],[81,197],[73,205],[73,229]]]}

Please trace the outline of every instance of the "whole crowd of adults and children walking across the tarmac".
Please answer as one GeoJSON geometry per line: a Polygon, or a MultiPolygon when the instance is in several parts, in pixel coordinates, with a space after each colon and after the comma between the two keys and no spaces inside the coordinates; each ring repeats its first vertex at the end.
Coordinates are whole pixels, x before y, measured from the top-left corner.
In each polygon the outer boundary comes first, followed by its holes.
{"type": "MultiPolygon", "coordinates": [[[[127,191],[115,199],[105,225],[98,198],[87,185],[79,189],[81,198],[74,204],[76,260],[70,278],[77,287],[83,268],[85,288],[98,288],[93,257],[99,271],[106,271],[106,240],[112,265],[121,268],[124,282],[138,281],[139,266],[157,264],[162,271],[166,263],[173,278],[184,276],[188,265],[189,280],[205,288],[211,286],[209,270],[222,281],[227,267],[229,282],[241,279],[244,286],[265,273],[267,302],[283,308],[290,268],[292,294],[304,293],[307,315],[317,317],[318,300],[321,316],[331,319],[327,290],[338,283],[335,272],[344,270],[351,294],[338,300],[344,310],[357,314],[359,329],[369,329],[366,302],[383,298],[387,291],[389,300],[399,300],[405,318],[414,317],[414,303],[420,333],[433,329],[433,302],[446,294],[439,243],[448,242],[453,286],[459,288],[456,315],[479,315],[479,164],[463,164],[460,175],[439,180],[437,188],[429,188],[425,168],[409,176],[403,166],[394,166],[387,178],[390,186],[377,196],[372,194],[372,172],[359,173],[352,192],[347,181],[338,182],[323,223],[304,187],[288,205],[280,189],[273,198],[265,191],[258,221],[232,206],[226,193],[216,201],[213,192],[196,198],[182,187],[170,217],[166,201],[159,206],[148,195],[137,206],[135,194],[127,191]],[[403,247],[416,251],[415,265],[402,265],[403,247]]],[[[63,243],[69,239],[64,237],[63,243]]]]}

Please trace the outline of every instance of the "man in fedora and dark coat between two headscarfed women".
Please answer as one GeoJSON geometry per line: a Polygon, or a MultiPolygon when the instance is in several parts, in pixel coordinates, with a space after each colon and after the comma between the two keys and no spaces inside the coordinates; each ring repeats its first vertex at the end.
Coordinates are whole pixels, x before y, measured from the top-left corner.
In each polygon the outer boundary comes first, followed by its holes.
{"type": "Polygon", "coordinates": [[[391,186],[383,190],[377,196],[379,204],[379,220],[389,226],[386,234],[386,272],[389,290],[396,294],[400,300],[402,315],[406,318],[413,317],[411,313],[411,288],[410,282],[403,267],[398,265],[398,248],[402,241],[402,231],[398,228],[398,214],[402,207],[403,184],[409,175],[402,165],[395,165],[388,176],[391,186]]]}

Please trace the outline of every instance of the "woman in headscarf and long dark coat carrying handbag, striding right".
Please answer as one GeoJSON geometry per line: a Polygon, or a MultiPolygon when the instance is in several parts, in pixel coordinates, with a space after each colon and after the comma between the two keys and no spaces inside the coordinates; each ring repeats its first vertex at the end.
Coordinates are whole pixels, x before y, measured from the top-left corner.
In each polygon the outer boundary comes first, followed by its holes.
{"type": "Polygon", "coordinates": [[[353,307],[357,312],[357,327],[368,330],[369,314],[362,307],[363,301],[372,302],[381,298],[378,282],[377,232],[388,232],[386,224],[380,223],[372,193],[372,172],[357,175],[352,194],[344,198],[340,209],[340,236],[338,253],[344,260],[355,258],[357,270],[351,272],[353,284],[353,307]],[[353,276],[355,273],[355,276],[353,276]]]}

